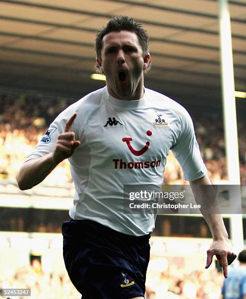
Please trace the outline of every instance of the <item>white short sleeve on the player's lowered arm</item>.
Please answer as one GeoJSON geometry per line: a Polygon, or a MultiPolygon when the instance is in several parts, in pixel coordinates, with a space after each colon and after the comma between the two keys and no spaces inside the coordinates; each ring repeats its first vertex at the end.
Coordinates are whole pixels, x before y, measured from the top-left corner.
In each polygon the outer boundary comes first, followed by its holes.
{"type": "Polygon", "coordinates": [[[180,116],[180,135],[171,150],[182,167],[184,180],[194,181],[203,177],[207,169],[201,156],[190,115],[184,109],[180,116]]]}

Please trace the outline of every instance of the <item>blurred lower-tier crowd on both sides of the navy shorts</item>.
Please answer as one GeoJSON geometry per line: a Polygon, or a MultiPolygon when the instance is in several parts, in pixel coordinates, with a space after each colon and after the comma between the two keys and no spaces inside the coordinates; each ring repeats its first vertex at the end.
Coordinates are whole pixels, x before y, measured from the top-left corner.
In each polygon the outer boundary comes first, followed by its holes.
{"type": "MultiPolygon", "coordinates": [[[[145,298],[218,299],[222,284],[223,275],[216,268],[188,273],[182,268],[171,266],[164,272],[147,272],[145,298]]],[[[1,269],[1,288],[31,289],[31,298],[35,299],[80,298],[65,271],[45,273],[38,260],[19,269],[1,269]]]]}

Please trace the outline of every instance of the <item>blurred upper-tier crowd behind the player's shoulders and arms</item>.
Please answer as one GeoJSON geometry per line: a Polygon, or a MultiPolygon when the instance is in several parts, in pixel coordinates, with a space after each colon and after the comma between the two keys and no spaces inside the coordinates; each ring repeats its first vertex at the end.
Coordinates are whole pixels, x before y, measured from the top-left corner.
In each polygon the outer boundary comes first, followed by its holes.
{"type": "MultiPolygon", "coordinates": [[[[0,95],[0,178],[15,181],[22,162],[45,133],[55,117],[74,100],[47,98],[43,95],[0,95]]],[[[209,170],[211,181],[216,184],[226,180],[225,142],[223,120],[218,114],[196,114],[192,118],[197,141],[209,170]]],[[[246,185],[245,123],[238,123],[241,183],[246,185]]],[[[45,179],[50,186],[71,184],[69,163],[64,160],[45,179]]],[[[165,184],[184,184],[181,168],[170,152],[164,172],[165,184]]]]}

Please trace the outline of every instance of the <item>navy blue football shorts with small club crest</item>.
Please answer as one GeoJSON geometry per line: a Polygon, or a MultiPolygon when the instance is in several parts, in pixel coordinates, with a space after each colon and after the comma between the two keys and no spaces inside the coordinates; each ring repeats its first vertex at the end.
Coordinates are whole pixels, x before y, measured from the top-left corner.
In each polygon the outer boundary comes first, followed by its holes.
{"type": "Polygon", "coordinates": [[[149,235],[116,232],[91,220],[63,222],[63,257],[82,299],[129,299],[145,293],[149,235]]]}

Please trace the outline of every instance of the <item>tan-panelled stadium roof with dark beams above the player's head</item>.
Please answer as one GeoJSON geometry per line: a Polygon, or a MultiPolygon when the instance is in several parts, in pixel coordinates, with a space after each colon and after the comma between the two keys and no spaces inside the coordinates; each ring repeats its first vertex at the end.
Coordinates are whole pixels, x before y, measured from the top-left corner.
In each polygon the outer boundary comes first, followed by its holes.
{"type": "MultiPolygon", "coordinates": [[[[246,91],[246,0],[229,1],[235,89],[246,91]]],[[[114,15],[142,21],[152,69],[145,86],[187,103],[221,103],[215,0],[0,0],[0,86],[83,95],[97,30],[114,15]]]]}

